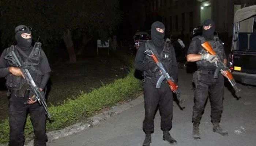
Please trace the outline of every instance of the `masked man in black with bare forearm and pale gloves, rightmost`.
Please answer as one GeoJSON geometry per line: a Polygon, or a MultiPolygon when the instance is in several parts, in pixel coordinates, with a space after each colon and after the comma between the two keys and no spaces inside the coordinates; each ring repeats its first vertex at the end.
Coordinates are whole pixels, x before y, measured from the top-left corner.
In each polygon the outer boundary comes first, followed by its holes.
{"type": "Polygon", "coordinates": [[[196,62],[198,70],[193,74],[193,82],[195,83],[195,95],[193,106],[193,138],[200,140],[199,124],[204,112],[208,93],[211,101],[211,122],[213,131],[223,136],[228,133],[219,126],[222,114],[222,104],[224,96],[224,78],[226,72],[220,72],[218,78],[214,78],[216,67],[215,62],[220,59],[227,65],[226,54],[222,42],[218,37],[214,36],[215,24],[212,20],[205,20],[203,23],[202,36],[196,36],[192,39],[188,49],[187,61],[196,62]],[[205,41],[211,44],[212,49],[217,53],[215,55],[207,53],[201,46],[205,41]],[[223,75],[223,76],[222,76],[223,75]]]}

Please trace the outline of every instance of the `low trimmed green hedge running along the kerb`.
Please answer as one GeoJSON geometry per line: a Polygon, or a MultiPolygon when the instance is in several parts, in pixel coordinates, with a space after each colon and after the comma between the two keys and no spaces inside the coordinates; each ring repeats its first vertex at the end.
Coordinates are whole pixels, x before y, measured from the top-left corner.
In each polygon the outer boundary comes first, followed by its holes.
{"type": "MultiPolygon", "coordinates": [[[[128,63],[132,64],[131,61],[132,59],[129,59],[128,63]]],[[[117,79],[112,84],[94,89],[90,93],[81,93],[76,99],[64,101],[61,105],[50,106],[48,110],[54,121],[46,123],[46,131],[59,130],[79,122],[85,117],[92,116],[95,111],[99,111],[104,107],[111,107],[118,101],[137,93],[142,89],[142,86],[140,80],[136,79],[133,73],[134,69],[131,70],[127,77],[117,79]]],[[[31,121],[27,120],[25,137],[29,137],[32,134],[31,121]]],[[[5,119],[0,123],[0,143],[7,143],[8,141],[9,122],[8,119],[5,119]]]]}

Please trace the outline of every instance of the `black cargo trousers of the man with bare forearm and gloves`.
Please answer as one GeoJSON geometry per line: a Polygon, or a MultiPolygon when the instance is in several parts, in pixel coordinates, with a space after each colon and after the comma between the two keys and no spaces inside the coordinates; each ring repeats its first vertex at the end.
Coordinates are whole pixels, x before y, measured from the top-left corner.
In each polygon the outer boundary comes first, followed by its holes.
{"type": "Polygon", "coordinates": [[[197,70],[193,75],[195,83],[195,95],[193,106],[192,122],[200,123],[204,107],[210,95],[211,102],[211,122],[221,121],[223,96],[224,96],[224,78],[221,73],[214,79],[214,71],[197,70]]]}

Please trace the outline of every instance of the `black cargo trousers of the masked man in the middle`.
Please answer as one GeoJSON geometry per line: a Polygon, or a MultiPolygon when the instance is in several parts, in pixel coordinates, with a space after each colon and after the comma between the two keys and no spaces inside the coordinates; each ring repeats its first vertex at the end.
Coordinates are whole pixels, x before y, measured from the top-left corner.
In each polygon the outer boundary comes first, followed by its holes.
{"type": "Polygon", "coordinates": [[[154,132],[154,116],[159,106],[161,116],[161,130],[170,131],[173,118],[173,95],[168,84],[163,81],[161,88],[156,89],[156,80],[145,78],[144,82],[144,108],[145,118],[143,131],[146,134],[154,132]]]}

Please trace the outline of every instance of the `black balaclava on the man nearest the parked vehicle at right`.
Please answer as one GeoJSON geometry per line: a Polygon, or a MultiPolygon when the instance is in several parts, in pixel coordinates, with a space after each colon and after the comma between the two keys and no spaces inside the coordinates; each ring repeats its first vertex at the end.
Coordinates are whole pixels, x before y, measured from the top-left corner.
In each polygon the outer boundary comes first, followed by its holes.
{"type": "Polygon", "coordinates": [[[212,40],[214,37],[215,23],[211,19],[204,20],[204,22],[203,22],[203,27],[209,26],[210,24],[211,24],[210,29],[204,30],[204,28],[202,28],[202,30],[203,30],[202,36],[208,41],[212,40]]]}

